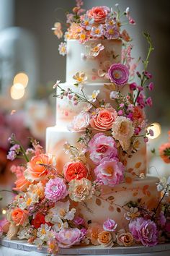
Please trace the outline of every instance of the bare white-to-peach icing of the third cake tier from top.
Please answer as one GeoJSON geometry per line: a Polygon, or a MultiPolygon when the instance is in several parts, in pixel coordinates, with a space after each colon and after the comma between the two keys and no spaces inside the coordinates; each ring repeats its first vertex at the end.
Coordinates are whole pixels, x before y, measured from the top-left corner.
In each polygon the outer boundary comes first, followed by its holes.
{"type": "MultiPolygon", "coordinates": [[[[64,164],[70,161],[69,155],[63,151],[64,143],[68,141],[71,145],[79,148],[80,145],[77,140],[81,135],[82,132],[69,132],[68,129],[58,126],[48,127],[46,130],[46,152],[56,155],[59,171],[63,171],[64,164]]],[[[133,179],[138,178],[141,173],[146,174],[146,143],[143,142],[143,138],[140,140],[140,149],[136,153],[130,158],[122,157],[126,170],[125,176],[130,176],[133,179]]],[[[88,163],[91,166],[91,172],[93,172],[95,166],[89,158],[88,163]]]]}

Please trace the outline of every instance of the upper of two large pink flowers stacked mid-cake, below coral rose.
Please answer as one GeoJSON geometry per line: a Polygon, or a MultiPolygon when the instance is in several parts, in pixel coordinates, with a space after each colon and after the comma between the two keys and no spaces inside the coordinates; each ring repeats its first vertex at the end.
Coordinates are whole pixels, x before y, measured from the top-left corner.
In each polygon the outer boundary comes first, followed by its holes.
{"type": "Polygon", "coordinates": [[[117,148],[115,140],[110,136],[104,135],[104,133],[97,133],[89,141],[89,153],[91,160],[95,164],[99,164],[104,157],[116,157],[117,148]]]}

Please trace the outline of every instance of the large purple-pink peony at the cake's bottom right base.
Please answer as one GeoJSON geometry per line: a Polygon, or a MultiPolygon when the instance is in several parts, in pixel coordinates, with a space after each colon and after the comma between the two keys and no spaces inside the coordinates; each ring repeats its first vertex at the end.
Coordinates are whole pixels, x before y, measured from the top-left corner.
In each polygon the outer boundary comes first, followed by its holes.
{"type": "Polygon", "coordinates": [[[137,242],[144,246],[155,246],[158,244],[158,231],[156,223],[144,218],[136,218],[129,223],[129,230],[137,242]]]}

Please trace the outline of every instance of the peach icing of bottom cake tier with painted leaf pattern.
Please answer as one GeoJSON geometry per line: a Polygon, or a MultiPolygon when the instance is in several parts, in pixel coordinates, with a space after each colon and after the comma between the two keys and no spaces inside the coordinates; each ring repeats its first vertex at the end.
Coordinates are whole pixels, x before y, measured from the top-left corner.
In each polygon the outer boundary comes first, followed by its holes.
{"type": "Polygon", "coordinates": [[[156,189],[158,178],[147,176],[144,179],[125,182],[115,186],[102,186],[102,195],[94,196],[86,202],[73,203],[76,212],[89,223],[103,223],[112,218],[118,224],[118,229],[126,229],[129,221],[125,214],[129,211],[128,202],[138,202],[148,209],[157,207],[161,199],[156,189]]]}

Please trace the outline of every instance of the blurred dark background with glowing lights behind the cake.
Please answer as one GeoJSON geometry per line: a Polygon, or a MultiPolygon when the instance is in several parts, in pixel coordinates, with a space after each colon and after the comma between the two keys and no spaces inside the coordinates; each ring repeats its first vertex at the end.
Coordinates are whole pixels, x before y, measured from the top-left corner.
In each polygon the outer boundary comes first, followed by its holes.
{"type": "MultiPolygon", "coordinates": [[[[148,31],[155,51],[151,55],[148,71],[153,74],[155,90],[152,92],[153,108],[146,114],[150,123],[161,125],[156,136],[148,142],[148,169],[155,175],[168,175],[170,168],[151,149],[168,140],[170,128],[170,1],[153,0],[84,0],[84,8],[107,5],[120,9],[130,7],[136,21],[128,26],[134,38],[133,54],[144,59],[147,43],[142,32],[148,31]],[[155,167],[156,166],[156,167],[155,167]]],[[[55,124],[55,98],[53,84],[65,81],[66,58],[58,54],[58,38],[51,27],[66,20],[74,0],[0,0],[0,186],[10,188],[11,176],[6,152],[7,138],[14,132],[25,147],[27,137],[35,137],[45,145],[45,129],[55,124]],[[23,74],[24,73],[24,74],[23,74]],[[22,81],[24,91],[18,82],[22,81]],[[14,87],[15,84],[15,87],[14,87]],[[17,84],[17,85],[16,85],[17,84]]],[[[61,39],[63,40],[63,39],[61,39]]],[[[169,176],[169,175],[168,175],[169,176]]],[[[3,208],[1,202],[1,208],[3,208]]]]}

